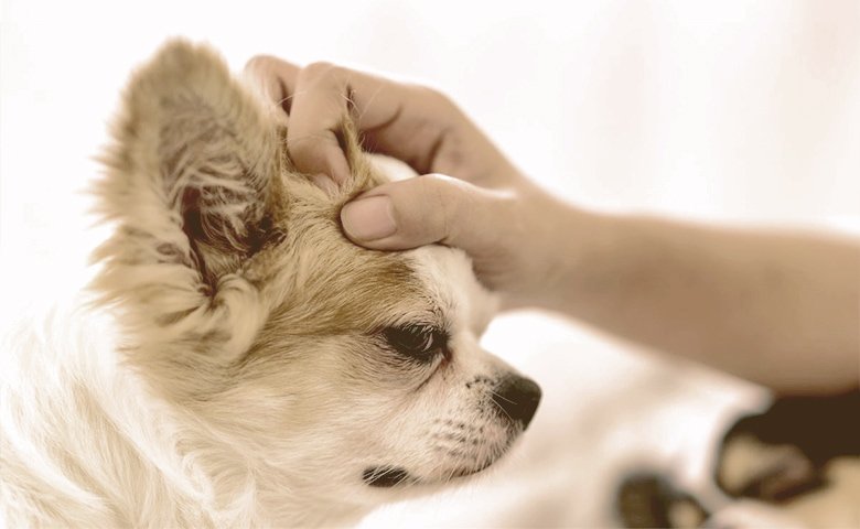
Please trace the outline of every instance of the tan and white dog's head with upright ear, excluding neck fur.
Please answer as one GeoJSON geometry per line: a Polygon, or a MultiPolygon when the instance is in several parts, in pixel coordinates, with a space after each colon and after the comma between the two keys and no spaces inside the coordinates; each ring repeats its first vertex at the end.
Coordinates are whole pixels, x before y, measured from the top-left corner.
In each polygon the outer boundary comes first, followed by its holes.
{"type": "Polygon", "coordinates": [[[117,230],[95,284],[125,361],[261,497],[372,505],[485,468],[540,397],[479,345],[490,294],[459,250],[351,244],[340,208],[384,177],[345,120],[352,181],[316,187],[280,112],[183,42],[133,76],[105,156],[117,230]]]}

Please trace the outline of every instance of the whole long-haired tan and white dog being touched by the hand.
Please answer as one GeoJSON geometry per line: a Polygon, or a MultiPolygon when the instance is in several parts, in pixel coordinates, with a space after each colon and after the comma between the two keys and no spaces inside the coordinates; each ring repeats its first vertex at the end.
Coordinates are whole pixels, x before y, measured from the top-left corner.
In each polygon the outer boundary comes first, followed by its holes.
{"type": "Polygon", "coordinates": [[[7,527],[351,525],[480,473],[535,414],[479,345],[496,305],[467,257],[351,244],[341,206],[387,176],[345,116],[352,177],[312,184],[259,85],[182,40],[133,74],[89,326],[3,347],[7,527]]]}

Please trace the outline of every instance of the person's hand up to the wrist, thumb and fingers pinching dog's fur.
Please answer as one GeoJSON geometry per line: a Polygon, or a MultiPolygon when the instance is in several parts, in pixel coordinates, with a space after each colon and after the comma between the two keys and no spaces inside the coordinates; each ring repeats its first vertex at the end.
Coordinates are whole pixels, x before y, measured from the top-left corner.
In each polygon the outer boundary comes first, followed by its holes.
{"type": "Polygon", "coordinates": [[[336,131],[351,115],[363,147],[421,176],[391,182],[346,204],[346,235],[373,249],[428,244],[462,248],[508,306],[539,304],[561,204],[525,179],[445,96],[327,63],[300,68],[259,56],[247,68],[287,112],[295,166],[322,185],[348,177],[336,131]],[[453,177],[451,177],[453,176],[453,177]]]}

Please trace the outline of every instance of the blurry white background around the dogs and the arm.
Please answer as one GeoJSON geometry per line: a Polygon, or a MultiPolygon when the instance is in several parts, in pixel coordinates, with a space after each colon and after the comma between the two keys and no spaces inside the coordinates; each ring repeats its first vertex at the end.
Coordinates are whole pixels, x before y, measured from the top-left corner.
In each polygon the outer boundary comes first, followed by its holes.
{"type": "MultiPolygon", "coordinates": [[[[85,215],[92,156],[130,69],[172,35],[236,71],[270,53],[437,86],[581,205],[860,231],[853,0],[2,0],[4,322],[86,278],[104,236],[85,215]]],[[[486,343],[545,388],[529,434],[485,482],[367,527],[611,525],[619,469],[647,458],[695,481],[723,418],[759,395],[539,314],[497,320],[486,343]]]]}

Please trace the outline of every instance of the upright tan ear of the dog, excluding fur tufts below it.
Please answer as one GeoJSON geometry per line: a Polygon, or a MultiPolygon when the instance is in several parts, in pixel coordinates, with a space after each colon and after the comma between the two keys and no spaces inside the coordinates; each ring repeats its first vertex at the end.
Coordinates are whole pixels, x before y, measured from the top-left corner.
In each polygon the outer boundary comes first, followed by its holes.
{"type": "Polygon", "coordinates": [[[184,41],[133,76],[123,102],[106,160],[106,213],[193,257],[206,280],[217,280],[267,228],[280,161],[276,128],[221,57],[184,41]]]}

